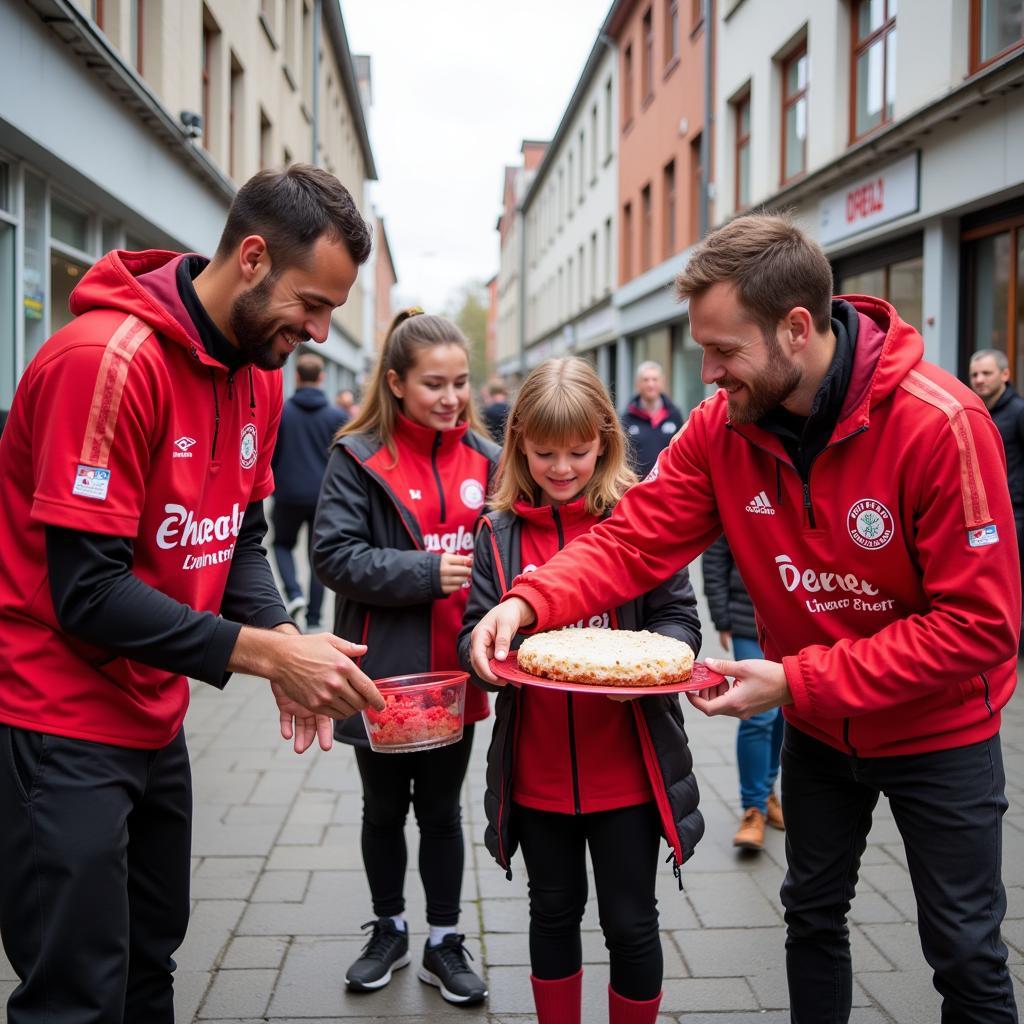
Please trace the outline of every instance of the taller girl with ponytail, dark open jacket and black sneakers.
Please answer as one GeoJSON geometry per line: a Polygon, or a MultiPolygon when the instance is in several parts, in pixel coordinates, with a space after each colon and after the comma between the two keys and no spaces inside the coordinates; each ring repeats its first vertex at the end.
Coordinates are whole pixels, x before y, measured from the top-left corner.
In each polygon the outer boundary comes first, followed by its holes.
{"type": "MultiPolygon", "coordinates": [[[[498,455],[470,401],[462,332],[422,310],[399,313],[362,411],[336,439],[313,529],[313,565],[337,595],[335,631],[367,644],[360,668],[372,678],[459,668],[473,535],[498,455]]],[[[355,746],[375,914],[364,926],[371,932],[362,954],[346,973],[349,989],[382,988],[410,963],[403,886],[412,803],[430,927],[419,976],[451,1002],[486,995],[458,931],[459,794],[473,723],[488,714],[486,695],[469,691],[464,736],[449,746],[379,754],[369,748],[360,716],[335,726],[336,738],[355,746]]]]}

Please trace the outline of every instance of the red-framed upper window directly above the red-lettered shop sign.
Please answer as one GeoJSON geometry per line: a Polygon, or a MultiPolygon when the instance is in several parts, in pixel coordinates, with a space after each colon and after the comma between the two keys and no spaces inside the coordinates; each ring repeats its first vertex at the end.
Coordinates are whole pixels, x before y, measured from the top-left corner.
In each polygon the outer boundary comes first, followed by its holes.
{"type": "Polygon", "coordinates": [[[850,141],[893,119],[896,96],[896,0],[856,0],[853,12],[850,141]]]}

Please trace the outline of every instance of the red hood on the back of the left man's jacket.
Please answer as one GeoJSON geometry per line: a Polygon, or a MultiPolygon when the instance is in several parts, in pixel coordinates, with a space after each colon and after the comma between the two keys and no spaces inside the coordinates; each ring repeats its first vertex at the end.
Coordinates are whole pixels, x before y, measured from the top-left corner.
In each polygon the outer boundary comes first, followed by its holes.
{"type": "Polygon", "coordinates": [[[178,264],[191,253],[150,249],[142,253],[115,250],[97,260],[71,295],[71,311],[118,309],[137,316],[158,334],[187,349],[207,366],[223,365],[207,354],[199,331],[178,295],[178,264]]]}

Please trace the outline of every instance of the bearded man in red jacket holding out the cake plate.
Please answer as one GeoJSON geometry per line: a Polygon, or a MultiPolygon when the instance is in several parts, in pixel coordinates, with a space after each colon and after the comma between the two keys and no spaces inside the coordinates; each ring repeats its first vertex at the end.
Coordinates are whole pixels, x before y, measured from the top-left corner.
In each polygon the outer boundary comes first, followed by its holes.
{"type": "Polygon", "coordinates": [[[518,630],[629,600],[724,532],[765,659],[711,663],[734,684],[690,699],[783,708],[793,1020],[849,1019],[846,915],[884,792],[942,1019],[1015,1022],[998,730],[1021,587],[998,434],[892,306],[833,299],[824,254],[783,218],[709,236],[677,286],[719,392],[609,519],[481,620],[474,667],[494,680],[518,630]]]}

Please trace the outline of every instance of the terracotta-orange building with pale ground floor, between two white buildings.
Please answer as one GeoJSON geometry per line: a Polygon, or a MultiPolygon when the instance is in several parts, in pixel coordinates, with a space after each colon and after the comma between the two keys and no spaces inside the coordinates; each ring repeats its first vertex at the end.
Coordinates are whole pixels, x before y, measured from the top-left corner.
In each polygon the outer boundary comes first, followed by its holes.
{"type": "MultiPolygon", "coordinates": [[[[757,2],[757,0],[755,0],[757,2]]],[[[769,6],[776,6],[769,4],[769,6]]],[[[620,404],[636,368],[659,364],[673,399],[705,396],[700,351],[673,281],[701,234],[708,168],[705,72],[712,34],[709,0],[629,0],[615,5],[620,82],[620,404]]],[[[711,17],[714,17],[712,13],[711,17]]],[[[730,54],[730,62],[732,56],[730,54]]]]}

